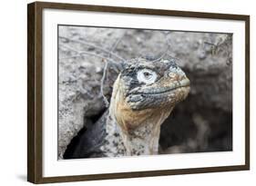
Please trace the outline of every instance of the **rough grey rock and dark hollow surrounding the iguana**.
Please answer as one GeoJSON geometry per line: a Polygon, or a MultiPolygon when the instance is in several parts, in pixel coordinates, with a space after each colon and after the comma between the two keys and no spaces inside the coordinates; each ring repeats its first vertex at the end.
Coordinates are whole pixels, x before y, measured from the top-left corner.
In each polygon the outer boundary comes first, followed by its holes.
{"type": "Polygon", "coordinates": [[[191,91],[162,124],[161,152],[231,150],[231,35],[78,26],[59,26],[58,30],[59,159],[77,132],[96,122],[106,110],[101,91],[109,99],[118,75],[108,58],[118,63],[118,56],[131,59],[165,53],[179,59],[191,91]],[[107,61],[110,68],[101,90],[107,61]]]}

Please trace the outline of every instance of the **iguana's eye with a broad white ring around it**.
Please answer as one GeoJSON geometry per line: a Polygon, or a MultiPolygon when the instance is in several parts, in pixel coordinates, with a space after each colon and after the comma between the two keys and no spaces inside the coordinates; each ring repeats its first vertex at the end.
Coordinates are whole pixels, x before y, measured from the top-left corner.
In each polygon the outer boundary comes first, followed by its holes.
{"type": "Polygon", "coordinates": [[[137,73],[137,79],[139,83],[155,83],[157,80],[157,73],[149,69],[142,69],[137,73]]]}

